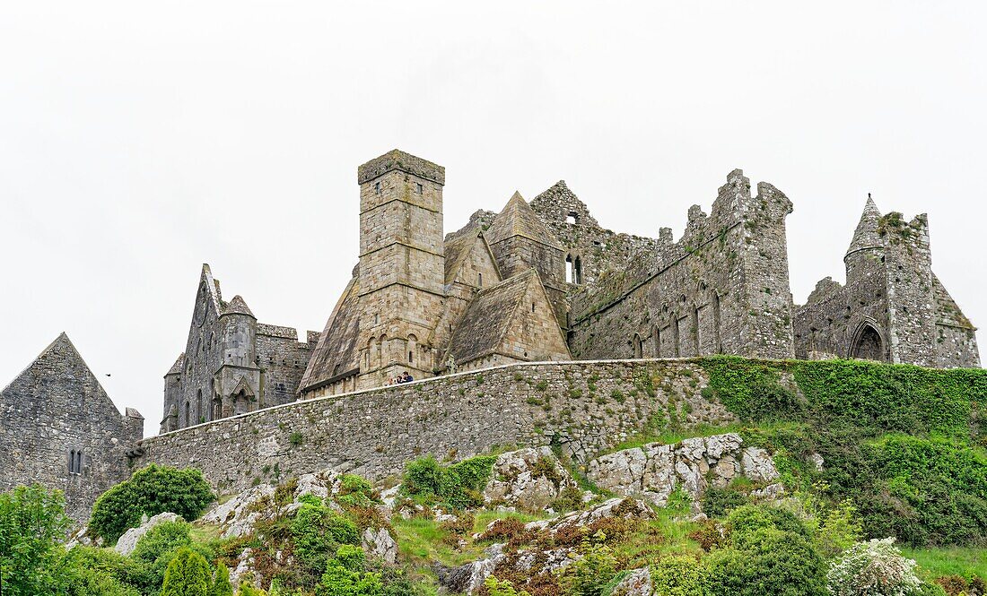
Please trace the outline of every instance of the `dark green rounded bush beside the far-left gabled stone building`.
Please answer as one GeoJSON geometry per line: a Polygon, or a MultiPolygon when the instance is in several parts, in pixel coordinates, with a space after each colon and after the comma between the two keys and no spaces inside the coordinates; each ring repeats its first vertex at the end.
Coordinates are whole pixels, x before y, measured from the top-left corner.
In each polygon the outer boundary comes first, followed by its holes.
{"type": "Polygon", "coordinates": [[[114,542],[128,528],[136,527],[142,515],[171,511],[194,520],[213,498],[200,471],[151,464],[96,499],[89,528],[94,535],[114,542]]]}

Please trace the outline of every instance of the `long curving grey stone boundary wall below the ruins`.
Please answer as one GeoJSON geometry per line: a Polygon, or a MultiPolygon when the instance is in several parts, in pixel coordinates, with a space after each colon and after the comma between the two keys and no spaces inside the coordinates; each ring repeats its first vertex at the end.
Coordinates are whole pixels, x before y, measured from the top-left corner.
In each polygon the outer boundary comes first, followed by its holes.
{"type": "Polygon", "coordinates": [[[371,479],[430,453],[556,443],[585,463],[650,424],[734,420],[688,360],[524,363],[298,401],[141,441],[150,463],[202,470],[220,494],[332,468],[371,479]]]}

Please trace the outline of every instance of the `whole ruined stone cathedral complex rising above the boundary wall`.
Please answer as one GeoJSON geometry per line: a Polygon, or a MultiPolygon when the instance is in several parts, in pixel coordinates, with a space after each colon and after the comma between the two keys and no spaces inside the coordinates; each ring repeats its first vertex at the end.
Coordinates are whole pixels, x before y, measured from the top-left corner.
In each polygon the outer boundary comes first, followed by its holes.
{"type": "Polygon", "coordinates": [[[980,365],[976,329],[933,273],[926,216],[868,200],[846,284],[793,302],[789,198],[730,172],[678,240],[601,227],[564,181],[443,234],[445,168],[392,151],[359,166],[358,263],[321,333],[258,322],[203,266],[161,431],[497,364],[860,358],[980,365]]]}

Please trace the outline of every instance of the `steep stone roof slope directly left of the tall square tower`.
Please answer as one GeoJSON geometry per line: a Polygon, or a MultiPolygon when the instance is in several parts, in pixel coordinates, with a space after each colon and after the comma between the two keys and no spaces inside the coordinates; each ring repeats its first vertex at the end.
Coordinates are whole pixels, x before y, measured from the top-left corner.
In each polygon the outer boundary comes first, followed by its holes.
{"type": "Polygon", "coordinates": [[[319,343],[302,375],[299,391],[321,385],[338,374],[359,367],[356,346],[359,330],[359,282],[354,277],[342,291],[340,301],[326,322],[326,329],[319,336],[319,343]]]}

